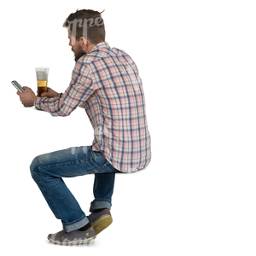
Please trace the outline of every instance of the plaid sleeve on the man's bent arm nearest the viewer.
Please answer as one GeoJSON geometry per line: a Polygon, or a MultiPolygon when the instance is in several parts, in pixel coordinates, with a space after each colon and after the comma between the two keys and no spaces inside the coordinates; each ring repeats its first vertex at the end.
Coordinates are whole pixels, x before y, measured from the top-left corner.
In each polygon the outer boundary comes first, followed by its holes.
{"type": "Polygon", "coordinates": [[[53,116],[68,116],[93,93],[94,86],[89,69],[83,62],[78,61],[73,69],[72,80],[61,98],[38,97],[34,106],[53,116]]]}

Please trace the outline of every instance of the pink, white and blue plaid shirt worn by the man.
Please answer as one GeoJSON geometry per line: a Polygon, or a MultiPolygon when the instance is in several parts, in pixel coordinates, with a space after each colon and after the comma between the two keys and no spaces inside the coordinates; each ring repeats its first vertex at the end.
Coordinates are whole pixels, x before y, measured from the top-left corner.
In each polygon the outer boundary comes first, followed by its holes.
{"type": "Polygon", "coordinates": [[[151,160],[142,80],[124,51],[96,44],[73,69],[61,98],[38,97],[35,107],[53,116],[84,108],[94,129],[93,150],[121,172],[136,172],[151,160]]]}

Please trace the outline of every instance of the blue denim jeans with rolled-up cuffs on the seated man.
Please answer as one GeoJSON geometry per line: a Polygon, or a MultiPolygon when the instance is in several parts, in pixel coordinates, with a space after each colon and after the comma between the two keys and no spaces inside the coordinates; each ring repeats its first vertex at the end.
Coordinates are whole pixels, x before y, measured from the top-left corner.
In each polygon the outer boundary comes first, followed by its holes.
{"type": "Polygon", "coordinates": [[[115,172],[104,154],[92,147],[67,148],[49,154],[42,154],[32,160],[32,178],[38,184],[55,217],[61,219],[63,230],[71,232],[89,223],[61,177],[77,177],[95,174],[93,186],[94,201],[90,212],[111,208],[115,172]]]}

